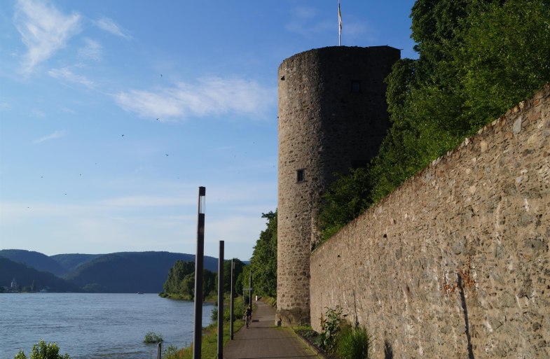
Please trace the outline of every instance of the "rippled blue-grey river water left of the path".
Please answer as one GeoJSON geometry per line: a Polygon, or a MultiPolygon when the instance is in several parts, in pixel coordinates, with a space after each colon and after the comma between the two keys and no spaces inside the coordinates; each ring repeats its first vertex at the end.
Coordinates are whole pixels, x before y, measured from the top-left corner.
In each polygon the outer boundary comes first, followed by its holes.
{"type": "MultiPolygon", "coordinates": [[[[202,325],[214,306],[204,304],[202,325]]],[[[156,294],[6,293],[0,294],[0,359],[27,357],[41,339],[56,342],[73,359],[154,359],[156,344],[147,332],[163,335],[179,348],[193,341],[193,302],[156,294]]]]}

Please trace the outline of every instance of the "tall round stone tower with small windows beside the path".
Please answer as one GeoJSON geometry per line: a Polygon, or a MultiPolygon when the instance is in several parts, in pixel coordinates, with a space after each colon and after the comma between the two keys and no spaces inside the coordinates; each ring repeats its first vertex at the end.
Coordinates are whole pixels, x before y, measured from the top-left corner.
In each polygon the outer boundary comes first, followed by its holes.
{"type": "Polygon", "coordinates": [[[317,204],[334,173],[364,166],[388,127],[389,46],[301,52],[279,66],[277,318],[310,323],[310,253],[317,204]]]}

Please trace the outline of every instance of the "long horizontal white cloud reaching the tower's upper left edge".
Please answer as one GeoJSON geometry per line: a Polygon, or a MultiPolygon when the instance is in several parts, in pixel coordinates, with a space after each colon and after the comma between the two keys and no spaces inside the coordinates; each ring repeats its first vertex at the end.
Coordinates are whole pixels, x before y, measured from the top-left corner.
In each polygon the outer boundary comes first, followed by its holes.
{"type": "Polygon", "coordinates": [[[186,119],[207,115],[264,117],[275,106],[275,88],[240,78],[200,78],[156,91],[129,90],[114,95],[118,106],[144,118],[186,119]]]}

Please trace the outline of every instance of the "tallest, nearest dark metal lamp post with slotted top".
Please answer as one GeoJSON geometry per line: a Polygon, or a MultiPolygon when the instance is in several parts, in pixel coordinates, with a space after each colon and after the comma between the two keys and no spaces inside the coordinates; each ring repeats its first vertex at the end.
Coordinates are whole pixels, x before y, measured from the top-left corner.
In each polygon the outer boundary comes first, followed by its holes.
{"type": "Polygon", "coordinates": [[[200,359],[202,349],[202,272],[205,265],[205,197],[206,188],[198,188],[197,255],[195,257],[195,328],[193,359],[200,359]]]}

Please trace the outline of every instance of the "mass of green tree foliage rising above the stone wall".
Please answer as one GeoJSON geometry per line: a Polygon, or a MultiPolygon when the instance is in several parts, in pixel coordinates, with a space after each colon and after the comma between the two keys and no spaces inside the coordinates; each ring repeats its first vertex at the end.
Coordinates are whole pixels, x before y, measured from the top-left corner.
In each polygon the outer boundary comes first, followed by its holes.
{"type": "Polygon", "coordinates": [[[323,239],[550,82],[549,0],[418,0],[411,18],[419,58],[387,77],[391,127],[324,196],[323,239]]]}

